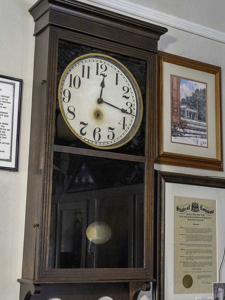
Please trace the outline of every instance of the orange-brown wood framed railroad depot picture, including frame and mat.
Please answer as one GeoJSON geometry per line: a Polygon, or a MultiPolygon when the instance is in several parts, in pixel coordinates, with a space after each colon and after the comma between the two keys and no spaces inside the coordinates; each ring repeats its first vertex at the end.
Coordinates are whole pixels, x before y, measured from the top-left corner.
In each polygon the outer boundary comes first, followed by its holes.
{"type": "Polygon", "coordinates": [[[159,52],[155,163],[223,170],[221,68],[159,52]]]}

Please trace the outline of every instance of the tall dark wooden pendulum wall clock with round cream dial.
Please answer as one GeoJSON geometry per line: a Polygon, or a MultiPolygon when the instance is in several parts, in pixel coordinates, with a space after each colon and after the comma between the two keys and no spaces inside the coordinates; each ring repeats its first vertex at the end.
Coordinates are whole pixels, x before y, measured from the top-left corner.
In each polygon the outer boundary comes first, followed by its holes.
{"type": "Polygon", "coordinates": [[[154,76],[167,29],[75,0],[39,0],[29,11],[20,300],[136,299],[156,278],[154,76]]]}

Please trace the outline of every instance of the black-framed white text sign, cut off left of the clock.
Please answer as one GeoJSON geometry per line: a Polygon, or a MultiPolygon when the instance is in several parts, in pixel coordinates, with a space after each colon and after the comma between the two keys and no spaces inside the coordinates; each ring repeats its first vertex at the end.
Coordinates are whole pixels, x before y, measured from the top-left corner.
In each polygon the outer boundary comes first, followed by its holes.
{"type": "Polygon", "coordinates": [[[18,171],[22,79],[0,75],[0,169],[18,171]]]}

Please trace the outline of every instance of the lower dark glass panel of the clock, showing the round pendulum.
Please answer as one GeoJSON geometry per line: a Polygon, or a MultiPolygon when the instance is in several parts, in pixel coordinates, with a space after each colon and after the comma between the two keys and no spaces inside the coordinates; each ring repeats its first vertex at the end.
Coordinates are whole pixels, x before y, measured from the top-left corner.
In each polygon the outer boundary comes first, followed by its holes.
{"type": "Polygon", "coordinates": [[[142,268],[144,164],[55,152],[49,268],[142,268]]]}

